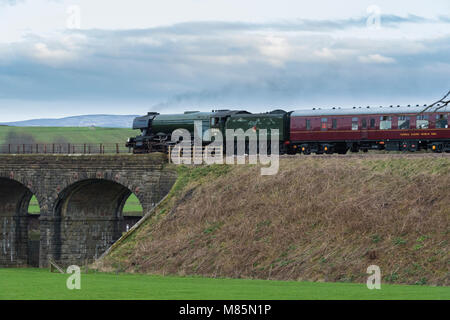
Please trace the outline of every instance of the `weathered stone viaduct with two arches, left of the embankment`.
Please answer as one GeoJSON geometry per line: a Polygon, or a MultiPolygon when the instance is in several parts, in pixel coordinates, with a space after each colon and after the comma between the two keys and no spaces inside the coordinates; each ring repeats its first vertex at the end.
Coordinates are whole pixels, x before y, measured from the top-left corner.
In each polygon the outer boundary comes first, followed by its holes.
{"type": "Polygon", "coordinates": [[[164,154],[0,155],[0,267],[26,266],[28,205],[40,207],[39,266],[99,257],[121,235],[134,193],[144,215],[170,190],[176,171],[164,154]]]}

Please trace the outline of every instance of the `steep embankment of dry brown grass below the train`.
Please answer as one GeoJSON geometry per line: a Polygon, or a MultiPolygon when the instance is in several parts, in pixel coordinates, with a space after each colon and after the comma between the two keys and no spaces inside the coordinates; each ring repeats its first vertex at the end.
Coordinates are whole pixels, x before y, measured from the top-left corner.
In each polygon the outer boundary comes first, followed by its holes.
{"type": "Polygon", "coordinates": [[[283,159],[178,167],[170,195],[103,271],[449,285],[450,158],[283,159]]]}

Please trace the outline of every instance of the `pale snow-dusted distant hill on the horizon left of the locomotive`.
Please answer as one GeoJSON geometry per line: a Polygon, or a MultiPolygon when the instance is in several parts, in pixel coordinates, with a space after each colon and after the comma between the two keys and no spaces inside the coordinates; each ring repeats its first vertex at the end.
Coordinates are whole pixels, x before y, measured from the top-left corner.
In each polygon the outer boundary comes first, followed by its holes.
{"type": "Polygon", "coordinates": [[[103,127],[131,128],[137,115],[92,114],[60,119],[33,119],[17,122],[4,122],[0,125],[14,127],[103,127]]]}

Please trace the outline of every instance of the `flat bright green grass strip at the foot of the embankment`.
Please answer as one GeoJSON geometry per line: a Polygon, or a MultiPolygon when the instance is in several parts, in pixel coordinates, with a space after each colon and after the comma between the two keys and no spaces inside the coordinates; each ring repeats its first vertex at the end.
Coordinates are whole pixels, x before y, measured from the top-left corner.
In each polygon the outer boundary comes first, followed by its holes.
{"type": "Polygon", "coordinates": [[[448,287],[312,283],[142,274],[81,274],[81,289],[69,290],[69,275],[47,269],[0,269],[0,299],[450,299],[448,287]]]}

